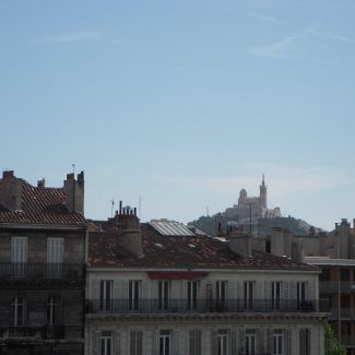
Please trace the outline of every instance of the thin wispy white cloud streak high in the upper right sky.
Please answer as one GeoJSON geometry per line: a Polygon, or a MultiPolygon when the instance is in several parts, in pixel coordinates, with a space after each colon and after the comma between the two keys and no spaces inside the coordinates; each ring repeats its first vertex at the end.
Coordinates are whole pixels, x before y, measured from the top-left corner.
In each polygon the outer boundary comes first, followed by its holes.
{"type": "Polygon", "coordinates": [[[259,47],[250,47],[248,51],[253,56],[269,57],[269,58],[286,58],[289,57],[289,48],[294,43],[303,37],[311,34],[312,29],[305,29],[301,33],[293,36],[287,36],[276,43],[259,47]]]}

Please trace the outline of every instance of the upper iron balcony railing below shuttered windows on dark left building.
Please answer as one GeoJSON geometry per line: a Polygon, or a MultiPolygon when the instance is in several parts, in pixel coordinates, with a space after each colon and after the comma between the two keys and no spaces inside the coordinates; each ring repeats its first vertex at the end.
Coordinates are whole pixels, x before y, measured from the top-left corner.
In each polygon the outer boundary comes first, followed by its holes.
{"type": "Polygon", "coordinates": [[[0,281],[85,280],[84,263],[1,262],[0,281]]]}

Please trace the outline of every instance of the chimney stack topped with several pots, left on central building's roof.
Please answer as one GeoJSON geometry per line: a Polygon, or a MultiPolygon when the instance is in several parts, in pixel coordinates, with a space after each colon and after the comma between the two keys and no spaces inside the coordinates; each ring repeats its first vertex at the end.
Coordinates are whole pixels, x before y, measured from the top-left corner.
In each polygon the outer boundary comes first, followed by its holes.
{"type": "Polygon", "coordinates": [[[122,208],[119,201],[119,211],[114,218],[109,220],[118,228],[122,246],[138,258],[143,257],[142,232],[140,220],[137,217],[137,209],[130,206],[122,208]]]}

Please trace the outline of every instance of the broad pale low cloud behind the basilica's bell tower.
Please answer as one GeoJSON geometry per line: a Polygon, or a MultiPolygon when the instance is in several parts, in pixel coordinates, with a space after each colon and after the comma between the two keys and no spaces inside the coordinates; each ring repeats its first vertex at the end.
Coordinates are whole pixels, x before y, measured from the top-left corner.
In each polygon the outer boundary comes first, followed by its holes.
{"type": "Polygon", "coordinates": [[[212,194],[233,194],[246,188],[248,192],[258,193],[261,174],[265,173],[267,184],[272,184],[275,201],[286,201],[291,197],[308,197],[332,188],[352,182],[346,170],[333,170],[323,167],[303,168],[283,167],[273,164],[251,163],[246,167],[247,174],[238,176],[161,176],[161,182],[176,188],[200,190],[212,194]]]}

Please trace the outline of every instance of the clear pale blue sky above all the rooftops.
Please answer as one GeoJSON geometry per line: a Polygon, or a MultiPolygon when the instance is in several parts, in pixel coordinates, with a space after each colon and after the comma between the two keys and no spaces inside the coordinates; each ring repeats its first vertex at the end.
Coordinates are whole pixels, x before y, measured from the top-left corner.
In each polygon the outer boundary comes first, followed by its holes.
{"type": "MultiPolygon", "coordinates": [[[[355,217],[355,1],[1,1],[2,169],[188,222],[245,187],[355,217]]],[[[118,203],[117,203],[118,205],[118,203]]]]}

